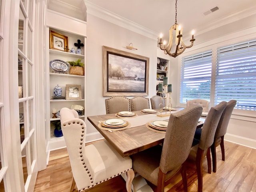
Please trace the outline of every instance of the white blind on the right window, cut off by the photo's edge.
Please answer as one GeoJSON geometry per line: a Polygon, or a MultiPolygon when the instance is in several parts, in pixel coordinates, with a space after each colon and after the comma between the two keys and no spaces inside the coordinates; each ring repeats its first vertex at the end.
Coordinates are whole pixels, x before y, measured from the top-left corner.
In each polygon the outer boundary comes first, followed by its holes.
{"type": "Polygon", "coordinates": [[[217,49],[214,104],[232,99],[235,108],[256,110],[256,40],[217,49]]]}

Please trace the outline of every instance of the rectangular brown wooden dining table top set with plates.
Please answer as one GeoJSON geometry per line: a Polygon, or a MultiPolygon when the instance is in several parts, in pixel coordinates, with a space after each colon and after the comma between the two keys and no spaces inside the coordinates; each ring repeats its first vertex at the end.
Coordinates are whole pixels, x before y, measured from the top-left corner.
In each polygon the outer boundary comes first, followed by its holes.
{"type": "MultiPolygon", "coordinates": [[[[179,111],[184,108],[176,107],[176,109],[177,111],[179,111]]],[[[134,113],[137,116],[147,115],[143,114],[140,111],[134,111],[134,113]]],[[[151,148],[164,142],[165,133],[150,130],[146,127],[146,124],[114,132],[103,130],[98,126],[101,121],[114,118],[119,117],[117,117],[116,114],[104,114],[87,117],[87,119],[92,123],[92,125],[100,132],[100,134],[102,134],[102,136],[110,144],[112,144],[112,146],[123,157],[130,156],[132,154],[146,150],[148,148],[151,148]]],[[[203,126],[204,120],[204,118],[199,119],[200,123],[198,123],[197,128],[203,126]]],[[[150,121],[150,119],[148,119],[148,121],[150,121]]]]}

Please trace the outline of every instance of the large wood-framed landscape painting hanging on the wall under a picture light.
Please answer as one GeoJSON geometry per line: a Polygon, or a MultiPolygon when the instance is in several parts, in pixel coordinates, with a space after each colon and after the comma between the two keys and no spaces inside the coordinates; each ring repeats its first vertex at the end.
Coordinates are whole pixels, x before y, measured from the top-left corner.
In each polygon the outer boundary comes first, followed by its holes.
{"type": "Polygon", "coordinates": [[[103,96],[148,96],[149,58],[102,48],[103,96]]]}

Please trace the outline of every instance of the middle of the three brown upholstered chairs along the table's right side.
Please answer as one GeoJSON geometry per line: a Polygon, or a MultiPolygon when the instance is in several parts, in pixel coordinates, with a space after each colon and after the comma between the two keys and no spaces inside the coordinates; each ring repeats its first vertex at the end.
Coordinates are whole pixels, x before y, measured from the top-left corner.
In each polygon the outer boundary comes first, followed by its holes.
{"type": "Polygon", "coordinates": [[[208,173],[212,172],[211,167],[211,157],[210,157],[210,146],[214,140],[214,134],[216,132],[216,128],[218,126],[218,122],[220,121],[220,117],[226,108],[227,102],[222,101],[218,105],[210,108],[208,115],[204,121],[204,125],[201,128],[197,129],[201,130],[199,144],[192,146],[189,158],[192,160],[196,160],[196,172],[198,178],[198,192],[202,192],[203,188],[203,174],[202,174],[202,160],[204,157],[207,157],[208,163],[208,173]]]}

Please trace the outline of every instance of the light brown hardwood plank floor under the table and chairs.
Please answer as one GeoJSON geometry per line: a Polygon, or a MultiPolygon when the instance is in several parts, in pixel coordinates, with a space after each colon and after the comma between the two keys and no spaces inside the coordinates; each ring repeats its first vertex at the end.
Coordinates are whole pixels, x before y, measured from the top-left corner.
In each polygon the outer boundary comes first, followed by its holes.
{"type": "MultiPolygon", "coordinates": [[[[203,160],[204,192],[256,192],[256,150],[224,142],[226,160],[221,160],[220,146],[216,148],[217,172],[208,174],[207,161],[203,160]]],[[[197,192],[196,166],[188,161],[188,191],[197,192]]],[[[50,152],[46,170],[38,172],[34,192],[69,192],[72,171],[66,148],[50,152]]],[[[177,175],[166,188],[183,192],[181,176],[177,175]]],[[[112,178],[86,192],[126,192],[121,176],[112,178]]]]}

